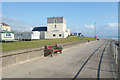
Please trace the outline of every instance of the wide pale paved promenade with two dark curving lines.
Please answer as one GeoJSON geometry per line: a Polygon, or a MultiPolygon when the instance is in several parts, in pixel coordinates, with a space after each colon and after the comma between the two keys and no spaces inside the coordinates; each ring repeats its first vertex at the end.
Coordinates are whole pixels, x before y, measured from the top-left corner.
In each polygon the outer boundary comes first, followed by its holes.
{"type": "Polygon", "coordinates": [[[76,78],[97,78],[99,61],[103,52],[99,77],[115,78],[107,40],[76,45],[64,49],[63,54],[54,54],[52,58],[42,56],[39,59],[4,69],[2,76],[3,78],[73,78],[75,76],[76,78]],[[83,66],[93,53],[94,55],[83,66]]]}

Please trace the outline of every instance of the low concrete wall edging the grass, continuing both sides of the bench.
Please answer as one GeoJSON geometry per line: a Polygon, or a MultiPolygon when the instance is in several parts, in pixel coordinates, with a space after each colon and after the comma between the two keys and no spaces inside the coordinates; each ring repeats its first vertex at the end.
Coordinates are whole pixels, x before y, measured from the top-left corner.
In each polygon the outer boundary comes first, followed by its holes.
{"type": "MultiPolygon", "coordinates": [[[[94,40],[92,40],[94,41],[94,40]]],[[[64,48],[72,47],[78,44],[83,44],[87,43],[88,41],[77,41],[77,42],[70,42],[70,43],[63,43],[63,44],[58,44],[64,48]]],[[[31,48],[31,49],[24,49],[24,50],[16,50],[16,51],[9,51],[9,52],[4,52],[2,57],[2,68],[10,67],[13,65],[17,65],[20,63],[25,63],[30,60],[34,60],[37,58],[40,58],[41,56],[44,55],[43,52],[44,47],[39,47],[39,48],[31,48]]]]}

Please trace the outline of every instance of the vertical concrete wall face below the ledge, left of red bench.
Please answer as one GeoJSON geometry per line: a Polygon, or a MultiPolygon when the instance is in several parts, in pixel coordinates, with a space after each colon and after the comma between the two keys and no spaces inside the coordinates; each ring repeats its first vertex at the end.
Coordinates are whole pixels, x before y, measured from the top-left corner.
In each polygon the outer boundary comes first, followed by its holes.
{"type": "Polygon", "coordinates": [[[16,64],[24,63],[32,59],[39,58],[43,55],[43,50],[26,52],[26,53],[16,53],[11,55],[4,55],[2,57],[2,68],[10,67],[16,64]]]}

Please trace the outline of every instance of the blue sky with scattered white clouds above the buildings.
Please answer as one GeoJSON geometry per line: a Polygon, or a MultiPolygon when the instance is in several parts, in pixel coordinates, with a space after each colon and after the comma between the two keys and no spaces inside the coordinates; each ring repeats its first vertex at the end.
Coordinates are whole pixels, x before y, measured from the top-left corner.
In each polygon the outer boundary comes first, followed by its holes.
{"type": "Polygon", "coordinates": [[[118,35],[117,2],[3,2],[2,22],[13,31],[31,31],[46,26],[47,17],[65,17],[71,32],[84,36],[118,35]],[[95,24],[96,23],[96,24],[95,24]]]}

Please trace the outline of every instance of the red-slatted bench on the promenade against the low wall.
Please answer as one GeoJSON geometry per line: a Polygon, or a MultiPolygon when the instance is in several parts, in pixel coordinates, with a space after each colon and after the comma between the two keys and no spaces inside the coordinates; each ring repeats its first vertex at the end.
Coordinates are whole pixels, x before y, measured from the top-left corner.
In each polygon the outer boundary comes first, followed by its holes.
{"type": "Polygon", "coordinates": [[[48,55],[51,55],[51,57],[52,57],[52,54],[57,53],[57,52],[60,52],[60,54],[62,54],[62,47],[57,46],[57,44],[44,47],[44,56],[45,57],[48,55]]]}

